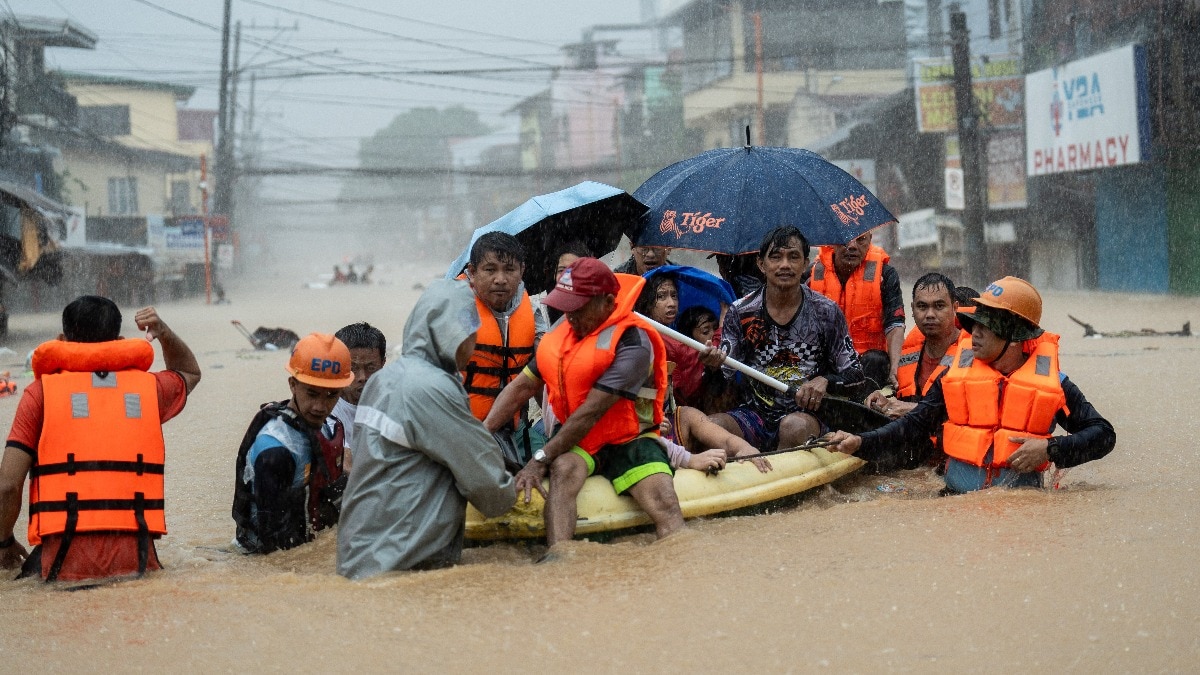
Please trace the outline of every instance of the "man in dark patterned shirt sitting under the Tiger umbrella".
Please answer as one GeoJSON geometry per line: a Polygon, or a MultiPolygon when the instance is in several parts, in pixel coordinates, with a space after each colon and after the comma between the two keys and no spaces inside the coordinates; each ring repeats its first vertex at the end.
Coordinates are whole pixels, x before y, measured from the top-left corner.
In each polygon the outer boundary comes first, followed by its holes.
{"type": "MultiPolygon", "coordinates": [[[[758,249],[763,288],[733,303],[725,315],[721,345],[702,360],[718,365],[730,356],[794,387],[780,393],[755,381],[743,384],[743,404],[713,422],[762,450],[790,448],[820,436],[816,414],[826,393],[842,393],[863,381],[846,318],[824,295],[802,283],[809,243],[792,226],[778,227],[758,249]]],[[[733,371],[725,370],[726,377],[733,371]]]]}

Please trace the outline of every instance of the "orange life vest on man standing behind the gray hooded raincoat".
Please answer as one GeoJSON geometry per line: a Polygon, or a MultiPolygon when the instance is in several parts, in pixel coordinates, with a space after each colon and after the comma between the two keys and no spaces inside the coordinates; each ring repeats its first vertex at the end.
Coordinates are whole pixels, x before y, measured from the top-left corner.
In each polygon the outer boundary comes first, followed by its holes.
{"type": "Polygon", "coordinates": [[[475,334],[475,351],[470,356],[467,369],[462,371],[463,387],[470,396],[470,412],[482,420],[492,410],[496,396],[533,357],[533,342],[536,336],[533,317],[533,305],[529,294],[521,292],[521,304],[509,316],[509,339],[505,345],[500,324],[492,310],[475,297],[480,325],[475,334]]]}

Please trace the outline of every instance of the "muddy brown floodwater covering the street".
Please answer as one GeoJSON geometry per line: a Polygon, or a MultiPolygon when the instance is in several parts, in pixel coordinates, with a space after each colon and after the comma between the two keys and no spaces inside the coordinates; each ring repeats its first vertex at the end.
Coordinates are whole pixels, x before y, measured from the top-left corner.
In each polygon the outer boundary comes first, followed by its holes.
{"type": "MultiPolygon", "coordinates": [[[[434,275],[380,268],[370,287],[296,280],[232,287],[230,305],[161,304],[204,371],[166,426],[167,569],[77,592],[0,581],[4,669],[1198,669],[1200,340],[1085,340],[1067,318],[1177,330],[1200,319],[1195,299],[1046,294],[1064,370],[1118,435],[1062,490],[938,498],[925,472],[851,476],[798,506],[692,521],[662,543],[575,542],[538,566],[536,546],[497,544],[452,569],[364,583],[334,573],[331,532],[270,556],[226,552],[238,443],[260,402],[287,395],[287,354],[250,350],[230,319],[301,335],[366,319],[398,342],[415,285],[434,275]],[[906,490],[883,494],[884,480],[906,490]]],[[[14,316],[8,346],[23,359],[56,321],[14,316]]],[[[0,369],[20,370],[8,359],[0,369]]],[[[0,399],[5,429],[16,404],[0,399]]],[[[22,540],[25,522],[23,512],[22,540]]]]}

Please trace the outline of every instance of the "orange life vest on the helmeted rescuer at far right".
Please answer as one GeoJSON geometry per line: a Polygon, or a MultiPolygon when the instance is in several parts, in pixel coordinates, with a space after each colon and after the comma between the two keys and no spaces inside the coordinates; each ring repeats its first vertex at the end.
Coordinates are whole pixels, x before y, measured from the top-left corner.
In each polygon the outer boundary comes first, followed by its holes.
{"type": "Polygon", "coordinates": [[[942,376],[949,418],[942,425],[946,454],[973,466],[1002,467],[1020,447],[1010,436],[1050,437],[1055,414],[1067,405],[1058,336],[1044,333],[1025,346],[1032,347],[1028,358],[1006,377],[974,358],[968,339],[959,342],[942,376]]]}

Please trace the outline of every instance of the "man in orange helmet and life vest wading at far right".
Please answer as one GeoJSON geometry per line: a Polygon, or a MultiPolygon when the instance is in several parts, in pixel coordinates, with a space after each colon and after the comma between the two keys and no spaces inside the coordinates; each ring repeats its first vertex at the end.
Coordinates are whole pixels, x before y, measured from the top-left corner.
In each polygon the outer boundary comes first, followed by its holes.
{"type": "Polygon", "coordinates": [[[1058,336],[1038,327],[1042,295],[1030,282],[992,282],[959,321],[971,338],[916,410],[862,436],[838,431],[830,449],[887,461],[941,426],[949,492],[1040,488],[1049,462],[1067,468],[1112,450],[1112,425],[1058,370],[1058,336]],[[1056,425],[1068,435],[1052,436],[1056,425]]]}

